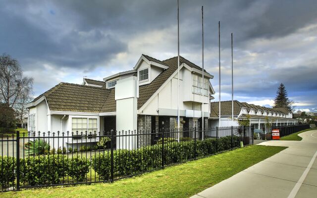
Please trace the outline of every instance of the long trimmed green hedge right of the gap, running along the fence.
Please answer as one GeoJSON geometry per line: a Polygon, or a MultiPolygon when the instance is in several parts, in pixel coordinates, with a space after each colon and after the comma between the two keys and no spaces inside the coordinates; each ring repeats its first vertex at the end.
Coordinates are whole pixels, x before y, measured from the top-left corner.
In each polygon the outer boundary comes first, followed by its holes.
{"type": "MultiPolygon", "coordinates": [[[[165,139],[164,139],[165,140],[165,139]]],[[[195,142],[164,143],[164,164],[170,165],[194,159],[195,142]]],[[[240,138],[233,136],[233,147],[239,147],[240,138]]],[[[218,152],[231,149],[231,136],[218,138],[218,152]]],[[[216,140],[205,139],[196,142],[197,157],[216,153],[216,140]]],[[[110,179],[110,152],[98,153],[92,157],[92,167],[103,180],[110,179]]],[[[129,176],[161,167],[162,145],[147,146],[134,150],[118,149],[113,153],[114,176],[129,176]]]]}

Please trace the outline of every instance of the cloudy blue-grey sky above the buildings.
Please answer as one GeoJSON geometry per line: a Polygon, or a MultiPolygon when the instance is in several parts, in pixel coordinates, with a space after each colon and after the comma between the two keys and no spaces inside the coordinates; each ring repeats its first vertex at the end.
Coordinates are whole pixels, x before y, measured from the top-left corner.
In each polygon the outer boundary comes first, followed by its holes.
{"type": "MultiPolygon", "coordinates": [[[[0,53],[34,78],[34,96],[83,76],[102,80],[130,70],[142,53],[177,55],[176,2],[0,0],[0,53]]],[[[296,109],[317,111],[316,0],[180,0],[180,54],[197,65],[202,5],[205,68],[216,93],[221,21],[221,99],[231,99],[233,32],[235,99],[269,106],[284,83],[296,109]]]]}

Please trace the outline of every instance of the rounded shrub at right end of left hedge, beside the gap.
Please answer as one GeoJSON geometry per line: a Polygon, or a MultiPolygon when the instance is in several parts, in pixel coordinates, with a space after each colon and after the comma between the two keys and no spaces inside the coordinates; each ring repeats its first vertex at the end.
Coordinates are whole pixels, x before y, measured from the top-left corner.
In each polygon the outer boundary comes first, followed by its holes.
{"type": "Polygon", "coordinates": [[[81,157],[80,155],[74,155],[72,158],[69,158],[68,163],[68,176],[77,182],[85,181],[87,173],[89,172],[90,159],[81,157]]]}

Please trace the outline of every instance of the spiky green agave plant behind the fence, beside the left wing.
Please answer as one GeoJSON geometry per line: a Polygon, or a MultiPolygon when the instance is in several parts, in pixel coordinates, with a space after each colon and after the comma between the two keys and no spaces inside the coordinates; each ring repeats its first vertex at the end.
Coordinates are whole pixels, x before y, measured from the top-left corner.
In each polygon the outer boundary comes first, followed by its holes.
{"type": "Polygon", "coordinates": [[[50,151],[50,145],[43,139],[38,139],[35,141],[30,141],[24,145],[26,154],[29,155],[40,155],[45,154],[50,151]]]}

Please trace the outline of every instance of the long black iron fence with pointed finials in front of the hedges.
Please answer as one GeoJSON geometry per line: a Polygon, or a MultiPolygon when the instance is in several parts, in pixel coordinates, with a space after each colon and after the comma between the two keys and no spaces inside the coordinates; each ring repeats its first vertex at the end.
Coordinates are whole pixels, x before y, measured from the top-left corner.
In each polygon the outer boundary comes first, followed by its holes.
{"type": "Polygon", "coordinates": [[[1,191],[113,182],[253,144],[252,127],[0,137],[1,191]]]}

